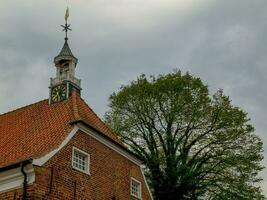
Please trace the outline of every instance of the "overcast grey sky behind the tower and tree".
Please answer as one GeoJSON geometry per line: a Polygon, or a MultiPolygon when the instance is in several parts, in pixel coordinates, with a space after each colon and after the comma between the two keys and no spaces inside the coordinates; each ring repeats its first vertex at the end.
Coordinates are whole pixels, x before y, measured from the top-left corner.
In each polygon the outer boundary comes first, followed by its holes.
{"type": "Polygon", "coordinates": [[[0,113],[48,98],[66,5],[82,96],[100,117],[120,85],[181,69],[248,112],[267,158],[266,0],[0,0],[0,113]]]}

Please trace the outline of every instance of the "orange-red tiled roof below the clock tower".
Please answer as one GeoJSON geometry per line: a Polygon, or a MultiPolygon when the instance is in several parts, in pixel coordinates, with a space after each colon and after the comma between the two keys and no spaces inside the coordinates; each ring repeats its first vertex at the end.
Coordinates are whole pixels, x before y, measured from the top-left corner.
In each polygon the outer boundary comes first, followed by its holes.
{"type": "Polygon", "coordinates": [[[48,100],[43,100],[0,115],[0,167],[38,158],[56,149],[77,121],[85,122],[123,145],[74,92],[60,103],[49,105],[48,100]]]}

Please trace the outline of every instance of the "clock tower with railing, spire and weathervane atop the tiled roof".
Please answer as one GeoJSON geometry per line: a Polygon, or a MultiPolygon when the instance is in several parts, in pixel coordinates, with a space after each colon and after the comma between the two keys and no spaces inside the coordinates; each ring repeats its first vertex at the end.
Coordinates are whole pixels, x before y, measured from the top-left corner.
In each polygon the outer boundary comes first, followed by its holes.
{"type": "Polygon", "coordinates": [[[65,15],[65,42],[60,53],[54,58],[56,67],[56,77],[50,78],[49,86],[49,103],[57,103],[69,98],[73,90],[81,94],[81,80],[75,77],[75,68],[78,59],[72,54],[68,45],[68,31],[71,30],[70,24],[67,23],[69,10],[67,8],[65,15]]]}

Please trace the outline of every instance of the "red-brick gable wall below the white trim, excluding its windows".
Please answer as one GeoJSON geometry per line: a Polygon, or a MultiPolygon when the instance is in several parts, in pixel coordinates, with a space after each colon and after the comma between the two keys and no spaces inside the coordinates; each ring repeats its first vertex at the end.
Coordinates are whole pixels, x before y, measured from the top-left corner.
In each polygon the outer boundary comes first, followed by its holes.
{"type": "Polygon", "coordinates": [[[35,171],[36,199],[134,199],[130,197],[133,177],[142,183],[142,200],[150,200],[139,166],[81,131],[35,171]],[[73,146],[90,154],[90,175],[72,169],[73,146]]]}

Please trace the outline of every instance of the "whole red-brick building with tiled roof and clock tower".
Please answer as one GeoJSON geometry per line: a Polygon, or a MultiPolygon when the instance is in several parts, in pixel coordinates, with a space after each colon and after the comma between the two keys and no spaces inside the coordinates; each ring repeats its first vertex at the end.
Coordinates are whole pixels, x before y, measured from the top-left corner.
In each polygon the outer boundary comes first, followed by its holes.
{"type": "Polygon", "coordinates": [[[0,115],[0,199],[151,200],[141,160],[81,98],[68,27],[49,99],[0,115]]]}

